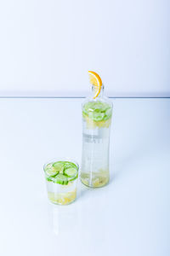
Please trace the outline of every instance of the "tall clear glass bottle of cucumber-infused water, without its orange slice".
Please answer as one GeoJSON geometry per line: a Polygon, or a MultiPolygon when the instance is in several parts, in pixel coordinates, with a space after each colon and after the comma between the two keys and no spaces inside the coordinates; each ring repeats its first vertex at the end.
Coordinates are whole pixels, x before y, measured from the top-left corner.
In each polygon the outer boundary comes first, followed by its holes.
{"type": "Polygon", "coordinates": [[[109,182],[109,150],[112,102],[104,96],[104,85],[94,99],[92,94],[82,104],[82,170],[81,181],[91,188],[109,182]]]}

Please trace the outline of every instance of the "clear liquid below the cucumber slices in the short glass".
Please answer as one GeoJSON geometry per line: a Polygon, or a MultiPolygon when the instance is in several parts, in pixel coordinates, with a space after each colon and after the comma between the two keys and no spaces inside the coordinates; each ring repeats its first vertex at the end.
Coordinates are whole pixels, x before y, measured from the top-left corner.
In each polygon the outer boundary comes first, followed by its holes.
{"type": "Polygon", "coordinates": [[[48,199],[54,204],[68,205],[77,197],[77,179],[67,185],[46,181],[48,199]]]}

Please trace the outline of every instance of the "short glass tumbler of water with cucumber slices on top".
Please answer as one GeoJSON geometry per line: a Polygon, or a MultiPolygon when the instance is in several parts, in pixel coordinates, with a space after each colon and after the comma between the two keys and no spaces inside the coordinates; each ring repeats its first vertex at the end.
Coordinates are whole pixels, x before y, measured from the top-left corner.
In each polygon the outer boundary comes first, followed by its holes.
{"type": "Polygon", "coordinates": [[[78,170],[77,162],[70,159],[52,160],[43,166],[49,201],[68,205],[76,200],[78,170]]]}

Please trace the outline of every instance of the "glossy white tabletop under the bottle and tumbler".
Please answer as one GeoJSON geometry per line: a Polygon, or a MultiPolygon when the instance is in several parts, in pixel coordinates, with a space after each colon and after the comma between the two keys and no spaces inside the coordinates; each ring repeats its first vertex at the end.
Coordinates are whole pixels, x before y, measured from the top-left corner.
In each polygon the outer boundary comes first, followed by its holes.
{"type": "Polygon", "coordinates": [[[0,255],[170,255],[170,99],[116,99],[111,182],[48,202],[42,166],[81,163],[83,99],[0,99],[0,255]]]}

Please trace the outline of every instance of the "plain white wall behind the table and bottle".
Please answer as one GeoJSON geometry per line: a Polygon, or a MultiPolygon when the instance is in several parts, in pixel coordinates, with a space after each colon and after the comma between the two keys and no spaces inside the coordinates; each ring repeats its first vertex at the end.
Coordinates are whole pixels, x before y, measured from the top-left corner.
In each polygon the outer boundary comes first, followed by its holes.
{"type": "Polygon", "coordinates": [[[0,3],[0,96],[170,96],[168,0],[0,3]]]}

